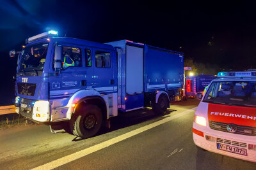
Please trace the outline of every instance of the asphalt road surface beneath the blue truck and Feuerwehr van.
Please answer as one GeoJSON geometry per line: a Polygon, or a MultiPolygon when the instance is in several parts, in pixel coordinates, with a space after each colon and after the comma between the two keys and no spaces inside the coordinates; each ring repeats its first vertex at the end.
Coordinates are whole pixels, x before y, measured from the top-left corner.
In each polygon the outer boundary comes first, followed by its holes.
{"type": "Polygon", "coordinates": [[[34,125],[0,131],[0,169],[256,169],[256,164],[197,150],[192,125],[198,101],[171,105],[168,114],[150,109],[111,119],[90,139],[51,134],[34,125]]]}

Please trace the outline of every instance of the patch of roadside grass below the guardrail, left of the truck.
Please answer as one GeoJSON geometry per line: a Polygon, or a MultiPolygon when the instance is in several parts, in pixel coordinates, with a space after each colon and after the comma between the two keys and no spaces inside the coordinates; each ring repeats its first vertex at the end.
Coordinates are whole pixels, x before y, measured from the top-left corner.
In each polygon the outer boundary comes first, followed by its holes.
{"type": "Polygon", "coordinates": [[[22,117],[16,113],[2,115],[0,117],[0,131],[4,129],[10,129],[12,127],[24,127],[28,125],[35,125],[36,123],[22,117]]]}

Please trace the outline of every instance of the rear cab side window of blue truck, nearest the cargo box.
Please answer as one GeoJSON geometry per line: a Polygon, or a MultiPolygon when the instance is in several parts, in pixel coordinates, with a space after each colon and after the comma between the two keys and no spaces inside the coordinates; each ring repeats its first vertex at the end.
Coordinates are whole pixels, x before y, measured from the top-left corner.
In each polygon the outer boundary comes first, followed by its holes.
{"type": "Polygon", "coordinates": [[[95,65],[96,67],[110,68],[110,52],[102,52],[95,50],[95,65]]]}

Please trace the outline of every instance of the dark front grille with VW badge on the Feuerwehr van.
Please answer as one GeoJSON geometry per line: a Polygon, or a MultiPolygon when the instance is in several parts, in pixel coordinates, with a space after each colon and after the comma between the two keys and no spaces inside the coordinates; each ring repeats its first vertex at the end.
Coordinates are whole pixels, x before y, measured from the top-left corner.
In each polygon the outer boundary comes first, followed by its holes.
{"type": "MultiPolygon", "coordinates": [[[[222,123],[222,122],[209,121],[210,128],[216,131],[229,132],[227,130],[227,125],[228,124],[222,123]]],[[[236,127],[237,127],[237,131],[235,132],[235,134],[256,136],[256,127],[251,127],[246,125],[236,125],[236,127]]],[[[229,133],[232,133],[232,132],[229,132],[229,133]]]]}

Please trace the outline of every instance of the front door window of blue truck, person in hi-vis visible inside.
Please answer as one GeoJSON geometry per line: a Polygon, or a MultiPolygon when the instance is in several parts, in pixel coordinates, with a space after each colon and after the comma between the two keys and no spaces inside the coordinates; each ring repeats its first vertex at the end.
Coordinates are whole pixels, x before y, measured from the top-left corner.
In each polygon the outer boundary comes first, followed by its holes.
{"type": "Polygon", "coordinates": [[[82,66],[81,48],[63,46],[61,61],[62,61],[63,69],[66,69],[67,67],[81,67],[82,66]]]}

